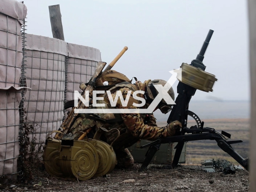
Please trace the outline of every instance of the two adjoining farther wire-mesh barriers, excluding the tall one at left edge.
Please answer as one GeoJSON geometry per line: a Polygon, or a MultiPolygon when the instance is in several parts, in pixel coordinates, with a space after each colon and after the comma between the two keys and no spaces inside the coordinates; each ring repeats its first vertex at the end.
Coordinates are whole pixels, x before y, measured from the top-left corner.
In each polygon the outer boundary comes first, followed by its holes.
{"type": "Polygon", "coordinates": [[[27,34],[26,122],[35,128],[31,138],[38,144],[60,128],[64,103],[74,99],[74,90],[88,82],[101,61],[100,50],[62,40],[27,34]]]}

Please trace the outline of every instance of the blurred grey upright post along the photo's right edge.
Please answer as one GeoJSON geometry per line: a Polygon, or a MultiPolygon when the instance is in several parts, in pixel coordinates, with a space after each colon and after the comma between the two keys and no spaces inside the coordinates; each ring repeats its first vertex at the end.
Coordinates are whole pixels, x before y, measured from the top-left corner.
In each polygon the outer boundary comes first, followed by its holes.
{"type": "Polygon", "coordinates": [[[250,191],[256,191],[256,0],[248,0],[250,34],[250,80],[251,80],[251,118],[250,118],[250,191]]]}

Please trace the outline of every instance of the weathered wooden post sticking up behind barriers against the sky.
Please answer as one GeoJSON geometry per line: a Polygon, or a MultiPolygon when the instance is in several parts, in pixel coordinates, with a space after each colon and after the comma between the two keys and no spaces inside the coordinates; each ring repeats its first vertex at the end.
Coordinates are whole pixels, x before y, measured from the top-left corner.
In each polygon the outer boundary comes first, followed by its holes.
{"type": "Polygon", "coordinates": [[[53,38],[64,41],[64,33],[61,21],[60,5],[49,6],[50,21],[52,26],[53,38]]]}

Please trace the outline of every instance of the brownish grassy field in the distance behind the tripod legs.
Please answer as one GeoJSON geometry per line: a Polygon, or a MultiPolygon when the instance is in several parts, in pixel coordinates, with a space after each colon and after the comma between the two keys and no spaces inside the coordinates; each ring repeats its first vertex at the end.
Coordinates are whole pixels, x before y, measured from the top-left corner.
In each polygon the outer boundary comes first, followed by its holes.
{"type": "MultiPolygon", "coordinates": [[[[159,126],[165,123],[158,123],[159,126]]],[[[188,121],[188,127],[195,125],[194,120],[188,121]]],[[[204,127],[214,128],[221,132],[224,130],[231,134],[231,140],[240,140],[242,143],[232,144],[232,147],[243,157],[249,154],[249,120],[248,119],[213,119],[204,120],[204,127]]],[[[201,140],[187,143],[187,164],[201,164],[206,159],[226,159],[233,164],[238,164],[232,157],[222,151],[215,140],[201,140]]]]}

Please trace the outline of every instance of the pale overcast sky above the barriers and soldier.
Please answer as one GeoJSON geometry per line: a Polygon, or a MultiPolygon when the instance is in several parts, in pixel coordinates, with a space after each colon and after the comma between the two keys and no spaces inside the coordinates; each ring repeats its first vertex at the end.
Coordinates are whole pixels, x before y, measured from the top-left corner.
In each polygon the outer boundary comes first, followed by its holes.
{"type": "Polygon", "coordinates": [[[113,69],[142,82],[168,80],[168,71],[182,62],[190,64],[212,29],[204,64],[218,82],[213,92],[198,90],[193,100],[249,100],[245,0],[24,0],[24,4],[30,34],[52,37],[48,6],[60,4],[66,42],[98,48],[107,63],[128,46],[113,69]]]}

